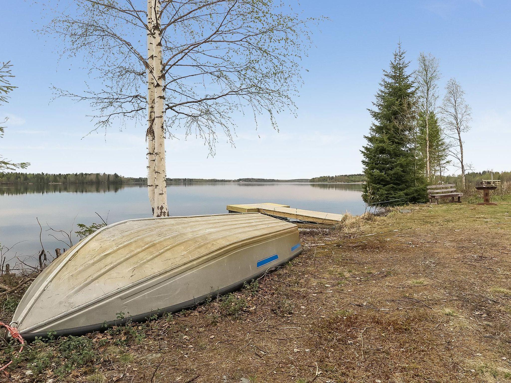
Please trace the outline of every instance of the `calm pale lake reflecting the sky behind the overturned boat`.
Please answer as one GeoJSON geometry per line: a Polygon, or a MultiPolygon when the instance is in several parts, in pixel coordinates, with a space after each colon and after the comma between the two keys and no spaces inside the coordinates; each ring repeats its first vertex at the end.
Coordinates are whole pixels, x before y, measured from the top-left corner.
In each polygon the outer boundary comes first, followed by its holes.
{"type": "MultiPolygon", "coordinates": [[[[275,202],[301,209],[334,213],[362,214],[365,204],[361,184],[333,183],[176,183],[167,187],[171,216],[226,213],[227,204],[275,202]]],[[[147,187],[125,185],[16,185],[0,186],[0,243],[11,247],[13,255],[33,255],[40,251],[41,240],[45,250],[55,254],[55,248],[68,248],[50,234],[66,240],[55,230],[71,231],[73,243],[78,242],[74,232],[77,223],[90,225],[101,222],[99,213],[107,222],[150,217],[147,187]]],[[[27,262],[34,264],[33,259],[27,262]]],[[[14,262],[11,262],[14,264],[14,262]]]]}

